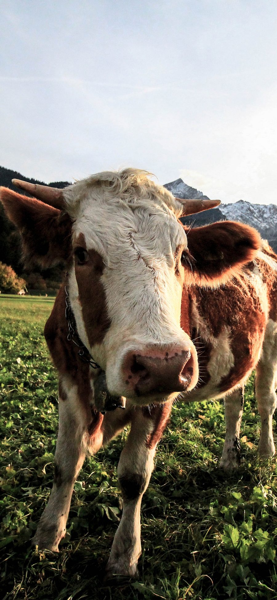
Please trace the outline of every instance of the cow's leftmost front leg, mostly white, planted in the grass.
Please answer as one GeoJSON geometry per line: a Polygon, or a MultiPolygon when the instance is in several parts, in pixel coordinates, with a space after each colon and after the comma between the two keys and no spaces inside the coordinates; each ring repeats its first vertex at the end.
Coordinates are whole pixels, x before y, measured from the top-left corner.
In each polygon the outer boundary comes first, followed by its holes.
{"type": "Polygon", "coordinates": [[[85,459],[83,436],[92,419],[89,404],[86,406],[81,403],[76,385],[63,378],[60,389],[54,484],[33,539],[33,544],[38,548],[56,552],[65,536],[74,482],[85,459]]]}

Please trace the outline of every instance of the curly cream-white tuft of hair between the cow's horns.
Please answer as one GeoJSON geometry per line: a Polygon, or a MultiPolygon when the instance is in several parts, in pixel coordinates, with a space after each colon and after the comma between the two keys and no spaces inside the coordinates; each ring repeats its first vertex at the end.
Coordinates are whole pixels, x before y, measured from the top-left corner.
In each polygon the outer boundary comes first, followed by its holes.
{"type": "MultiPolygon", "coordinates": [[[[156,184],[152,174],[140,169],[124,169],[122,171],[104,171],[96,173],[76,184],[64,189],[64,199],[71,218],[80,215],[80,205],[87,200],[97,200],[101,204],[109,200],[127,203],[130,206],[145,206],[145,201],[152,202],[164,211],[173,211],[176,217],[182,214],[182,207],[170,191],[156,184]]],[[[148,205],[149,206],[149,205],[148,205]]]]}

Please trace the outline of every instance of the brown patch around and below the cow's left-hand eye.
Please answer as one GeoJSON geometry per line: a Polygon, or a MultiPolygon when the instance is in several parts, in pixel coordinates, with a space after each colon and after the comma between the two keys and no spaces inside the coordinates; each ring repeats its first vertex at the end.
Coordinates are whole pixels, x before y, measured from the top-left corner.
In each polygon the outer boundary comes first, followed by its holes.
{"type": "MultiPolygon", "coordinates": [[[[85,238],[80,236],[82,234],[79,235],[76,243],[80,243],[85,248],[85,238]]],[[[91,346],[103,341],[110,326],[106,293],[101,281],[104,266],[103,258],[96,250],[88,250],[88,261],[85,264],[78,265],[77,260],[75,262],[83,321],[91,346]]]]}

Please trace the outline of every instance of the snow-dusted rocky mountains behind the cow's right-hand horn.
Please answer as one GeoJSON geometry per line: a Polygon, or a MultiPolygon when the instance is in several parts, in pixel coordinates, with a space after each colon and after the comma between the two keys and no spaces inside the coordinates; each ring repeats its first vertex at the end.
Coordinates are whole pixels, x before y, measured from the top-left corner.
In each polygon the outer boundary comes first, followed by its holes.
{"type": "MultiPolygon", "coordinates": [[[[201,191],[186,185],[182,179],[171,181],[170,184],[165,184],[164,187],[177,198],[208,199],[207,196],[203,196],[201,191]]],[[[267,239],[273,250],[277,252],[277,206],[275,204],[252,204],[251,202],[239,200],[182,218],[185,225],[191,225],[192,227],[200,227],[222,220],[240,221],[240,223],[255,227],[260,232],[261,237],[267,239]]]]}

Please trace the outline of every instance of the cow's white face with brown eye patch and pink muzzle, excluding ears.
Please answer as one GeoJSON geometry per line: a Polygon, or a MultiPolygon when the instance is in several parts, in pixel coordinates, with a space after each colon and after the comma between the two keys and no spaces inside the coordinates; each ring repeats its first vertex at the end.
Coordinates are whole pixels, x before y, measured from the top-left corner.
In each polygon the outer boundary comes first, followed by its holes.
{"type": "Polygon", "coordinates": [[[67,188],[65,200],[74,218],[69,294],[80,338],[111,394],[149,404],[192,389],[198,367],[180,328],[187,248],[180,206],[140,179],[112,187],[95,176],[67,188]]]}

